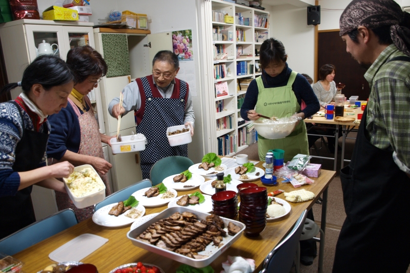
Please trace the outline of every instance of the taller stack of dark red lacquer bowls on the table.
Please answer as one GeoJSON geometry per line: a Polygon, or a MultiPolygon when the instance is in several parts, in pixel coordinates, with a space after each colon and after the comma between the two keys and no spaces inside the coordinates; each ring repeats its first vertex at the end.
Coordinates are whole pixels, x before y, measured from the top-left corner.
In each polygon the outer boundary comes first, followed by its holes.
{"type": "Polygon", "coordinates": [[[239,192],[239,221],[246,225],[245,235],[258,236],[266,226],[268,192],[265,187],[243,188],[239,192]]]}

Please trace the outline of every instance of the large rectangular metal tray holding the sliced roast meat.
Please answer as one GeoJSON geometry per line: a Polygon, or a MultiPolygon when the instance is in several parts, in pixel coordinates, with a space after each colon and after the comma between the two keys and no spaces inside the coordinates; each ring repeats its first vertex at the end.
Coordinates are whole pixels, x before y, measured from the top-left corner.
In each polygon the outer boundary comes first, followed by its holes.
{"type": "MultiPolygon", "coordinates": [[[[193,267],[205,267],[207,265],[209,265],[210,263],[212,263],[216,258],[218,258],[219,255],[221,255],[225,250],[227,250],[228,247],[230,247],[236,240],[239,239],[239,237],[241,236],[243,230],[245,229],[245,225],[241,222],[238,221],[234,221],[228,218],[223,218],[220,217],[221,220],[223,221],[223,223],[225,224],[225,226],[228,226],[229,222],[232,222],[233,224],[237,225],[240,227],[240,232],[238,232],[237,234],[235,234],[234,236],[231,235],[227,235],[227,237],[223,237],[223,245],[218,248],[218,246],[214,246],[212,245],[213,243],[211,242],[209,245],[207,245],[207,248],[204,251],[199,252],[199,255],[206,255],[208,256],[207,258],[204,259],[193,259],[193,258],[189,258],[187,256],[175,253],[173,251],[167,250],[167,249],[163,249],[160,248],[158,246],[152,245],[152,244],[148,244],[142,241],[139,241],[135,238],[137,238],[137,236],[139,236],[142,232],[144,232],[151,224],[158,222],[161,219],[170,217],[171,215],[173,215],[174,213],[179,212],[179,213],[183,213],[183,212],[190,212],[195,214],[198,217],[198,220],[204,220],[208,215],[210,215],[209,213],[201,213],[201,212],[197,212],[197,211],[193,211],[190,208],[187,207],[170,207],[165,209],[165,211],[159,213],[157,216],[155,216],[154,218],[152,218],[151,220],[148,220],[145,223],[142,223],[140,226],[137,226],[136,228],[134,228],[133,230],[130,230],[127,233],[127,238],[130,239],[132,241],[132,243],[135,246],[138,246],[140,248],[144,248],[148,251],[151,251],[152,253],[170,258],[172,260],[175,260],[177,262],[180,263],[185,263],[188,265],[191,265],[193,267]]],[[[225,228],[225,230],[227,230],[227,228],[225,228]]]]}

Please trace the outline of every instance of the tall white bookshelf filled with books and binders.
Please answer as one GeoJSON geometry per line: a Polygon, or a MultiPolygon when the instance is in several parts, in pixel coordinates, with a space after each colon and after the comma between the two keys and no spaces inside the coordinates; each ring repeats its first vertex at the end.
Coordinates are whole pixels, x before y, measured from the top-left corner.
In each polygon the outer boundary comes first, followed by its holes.
{"type": "Polygon", "coordinates": [[[256,142],[253,123],[240,117],[240,107],[249,83],[260,75],[256,52],[269,38],[270,14],[222,0],[211,0],[211,5],[217,137],[212,150],[233,156],[256,142]]]}

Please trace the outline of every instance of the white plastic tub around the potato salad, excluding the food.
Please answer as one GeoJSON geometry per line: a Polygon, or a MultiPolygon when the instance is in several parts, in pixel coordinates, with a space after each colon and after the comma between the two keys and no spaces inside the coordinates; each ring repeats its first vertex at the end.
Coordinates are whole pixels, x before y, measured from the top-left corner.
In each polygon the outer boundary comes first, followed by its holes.
{"type": "MultiPolygon", "coordinates": [[[[86,168],[90,168],[93,172],[95,172],[97,174],[97,181],[101,184],[104,185],[103,180],[101,180],[101,178],[99,177],[97,171],[95,171],[94,167],[91,165],[81,165],[81,166],[77,166],[74,168],[74,171],[81,171],[84,170],[86,168]]],[[[99,203],[101,201],[103,201],[104,199],[106,199],[106,186],[104,185],[104,188],[96,193],[92,193],[90,195],[86,195],[86,196],[82,196],[82,197],[75,197],[73,195],[73,193],[71,192],[69,186],[67,185],[67,178],[63,178],[64,180],[64,185],[66,187],[66,191],[68,193],[68,196],[70,197],[70,199],[73,201],[74,205],[78,208],[84,208],[84,207],[88,207],[88,206],[92,206],[96,203],[99,203]]]]}

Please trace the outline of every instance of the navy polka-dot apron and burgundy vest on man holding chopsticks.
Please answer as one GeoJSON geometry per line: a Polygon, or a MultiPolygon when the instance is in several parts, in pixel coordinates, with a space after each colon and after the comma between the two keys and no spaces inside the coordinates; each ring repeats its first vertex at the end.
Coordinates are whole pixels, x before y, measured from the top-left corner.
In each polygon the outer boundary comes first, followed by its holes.
{"type": "Polygon", "coordinates": [[[151,167],[159,159],[168,156],[188,157],[187,144],[171,147],[167,138],[168,127],[183,124],[188,85],[185,81],[175,79],[172,97],[163,98],[154,86],[152,75],[136,81],[141,95],[141,108],[135,113],[138,123],[136,131],[144,134],[148,141],[146,149],[139,152],[142,179],[149,179],[151,167]]]}

